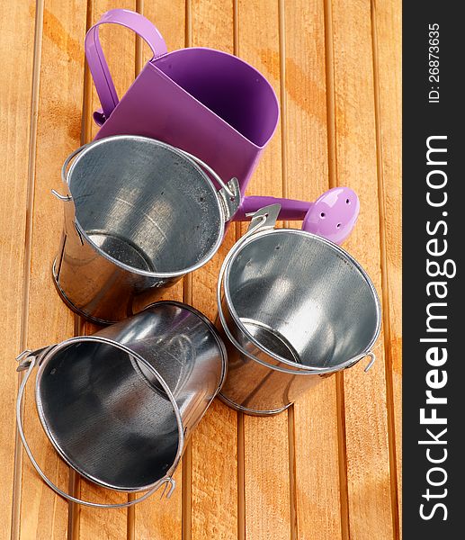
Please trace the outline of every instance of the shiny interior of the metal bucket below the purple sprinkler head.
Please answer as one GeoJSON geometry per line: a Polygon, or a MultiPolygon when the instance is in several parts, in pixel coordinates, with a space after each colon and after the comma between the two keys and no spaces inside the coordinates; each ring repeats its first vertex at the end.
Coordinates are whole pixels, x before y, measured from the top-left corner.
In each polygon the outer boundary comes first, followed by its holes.
{"type": "Polygon", "coordinates": [[[377,336],[376,296],[362,271],[319,237],[276,229],[249,241],[230,263],[225,288],[237,317],[262,347],[311,367],[336,367],[377,336]]]}

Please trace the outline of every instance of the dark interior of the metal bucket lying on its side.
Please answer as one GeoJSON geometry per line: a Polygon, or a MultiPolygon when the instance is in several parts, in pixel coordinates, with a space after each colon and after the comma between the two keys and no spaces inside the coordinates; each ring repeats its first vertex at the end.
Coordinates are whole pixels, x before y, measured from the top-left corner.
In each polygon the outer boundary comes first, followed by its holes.
{"type": "Polygon", "coordinates": [[[180,444],[171,401],[139,365],[112,345],[75,342],[49,357],[37,386],[40,419],[60,455],[120,491],[163,478],[180,444]]]}

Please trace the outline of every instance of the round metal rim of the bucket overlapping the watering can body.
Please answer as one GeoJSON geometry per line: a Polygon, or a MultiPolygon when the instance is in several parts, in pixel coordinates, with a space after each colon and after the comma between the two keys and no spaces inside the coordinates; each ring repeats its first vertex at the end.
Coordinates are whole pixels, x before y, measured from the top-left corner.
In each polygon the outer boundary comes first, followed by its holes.
{"type": "Polygon", "coordinates": [[[171,145],[169,145],[169,144],[167,144],[167,143],[165,143],[165,142],[163,142],[161,140],[151,139],[150,137],[143,137],[141,135],[129,135],[129,134],[126,134],[126,135],[112,135],[111,137],[105,137],[103,139],[93,140],[91,143],[86,145],[85,148],[83,148],[82,151],[79,152],[79,154],[76,155],[75,159],[73,160],[73,162],[69,166],[69,169],[67,170],[66,184],[67,184],[67,188],[69,189],[69,192],[71,194],[71,201],[70,202],[73,202],[73,204],[75,204],[73,193],[71,192],[71,187],[70,187],[69,180],[71,178],[71,175],[75,171],[76,165],[79,163],[80,159],[82,157],[84,157],[87,153],[91,152],[94,148],[96,148],[96,147],[98,147],[100,145],[104,145],[106,143],[112,142],[115,139],[116,140],[122,140],[122,139],[140,140],[142,142],[147,142],[148,144],[154,144],[155,146],[159,146],[161,148],[165,148],[165,149],[167,149],[169,151],[172,151],[177,157],[183,158],[191,166],[193,166],[193,168],[196,170],[196,172],[200,173],[205,178],[206,184],[209,186],[209,188],[211,190],[211,193],[214,194],[215,201],[217,202],[217,209],[218,209],[218,212],[219,212],[219,228],[218,228],[217,239],[216,239],[215,243],[210,247],[210,249],[206,253],[206,255],[204,257],[202,257],[199,261],[197,261],[197,263],[195,263],[194,265],[188,266],[188,267],[183,268],[181,270],[175,270],[175,271],[171,271],[171,272],[150,272],[149,270],[143,270],[141,268],[136,268],[134,266],[127,265],[126,263],[122,263],[118,259],[116,259],[116,258],[110,256],[108,253],[106,253],[101,247],[97,246],[94,243],[94,241],[92,240],[92,238],[90,238],[89,235],[85,232],[85,229],[82,227],[79,220],[77,219],[76,205],[75,205],[75,208],[74,208],[74,210],[75,210],[75,212],[74,212],[74,222],[76,224],[76,230],[77,230],[78,234],[81,237],[85,238],[88,245],[90,247],[92,247],[94,249],[94,251],[96,251],[98,253],[98,255],[101,255],[102,257],[106,258],[113,265],[119,266],[123,270],[125,270],[127,272],[130,272],[131,274],[135,274],[135,275],[143,275],[143,276],[146,276],[146,277],[162,278],[162,279],[163,278],[166,279],[166,278],[182,277],[183,275],[191,274],[191,272],[194,272],[195,270],[198,270],[199,268],[201,268],[201,266],[206,265],[210,261],[210,259],[213,258],[216,255],[216,253],[219,250],[219,247],[221,246],[223,238],[224,238],[224,234],[225,234],[224,210],[223,210],[222,204],[221,204],[221,202],[219,200],[219,192],[216,189],[215,185],[213,184],[212,180],[210,179],[210,176],[207,175],[207,173],[202,170],[201,166],[197,165],[197,163],[195,163],[195,161],[193,161],[193,159],[191,157],[186,156],[185,153],[183,152],[183,150],[180,150],[179,148],[175,148],[174,146],[171,146],[171,145]]]}

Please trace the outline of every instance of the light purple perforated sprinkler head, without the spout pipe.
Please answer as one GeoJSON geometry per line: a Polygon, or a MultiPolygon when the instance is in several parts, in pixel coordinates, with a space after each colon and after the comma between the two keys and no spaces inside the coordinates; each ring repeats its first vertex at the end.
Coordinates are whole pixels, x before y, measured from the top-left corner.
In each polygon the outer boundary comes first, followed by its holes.
{"type": "Polygon", "coordinates": [[[309,208],[302,230],[342,244],[352,232],[360,211],[360,201],[349,187],[334,187],[317,198],[309,208]]]}

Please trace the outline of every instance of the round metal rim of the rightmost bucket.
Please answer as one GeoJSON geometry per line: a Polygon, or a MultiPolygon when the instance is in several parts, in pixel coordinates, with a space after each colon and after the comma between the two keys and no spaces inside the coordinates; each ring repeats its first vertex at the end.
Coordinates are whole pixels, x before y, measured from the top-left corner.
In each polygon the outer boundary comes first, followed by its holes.
{"type": "MultiPolygon", "coordinates": [[[[280,371],[282,373],[288,373],[288,374],[309,374],[309,375],[315,375],[315,374],[334,374],[336,372],[342,371],[348,367],[351,367],[352,365],[357,364],[362,358],[365,356],[368,356],[371,354],[371,347],[376,343],[377,339],[380,336],[380,329],[381,329],[381,308],[380,308],[380,298],[376,291],[376,288],[374,284],[371,281],[370,276],[367,274],[367,272],[364,270],[364,268],[360,265],[360,263],[353,258],[347,251],[345,251],[342,247],[338,246],[334,242],[331,242],[327,238],[318,236],[316,234],[313,234],[311,232],[308,232],[306,230],[300,230],[300,229],[265,229],[256,232],[255,234],[252,234],[250,237],[245,238],[243,240],[239,239],[239,242],[241,242],[240,246],[237,246],[237,250],[234,253],[234,255],[230,258],[228,261],[228,265],[225,268],[225,274],[224,274],[224,296],[223,299],[226,301],[227,307],[228,307],[228,314],[231,317],[231,319],[234,321],[234,324],[237,325],[237,328],[246,336],[247,339],[249,339],[255,347],[258,348],[258,350],[264,352],[266,355],[273,358],[274,361],[276,361],[278,364],[270,364],[266,362],[263,359],[253,358],[255,361],[259,360],[260,364],[263,364],[264,366],[280,371]],[[344,260],[349,263],[351,263],[356,270],[359,271],[359,273],[362,275],[362,278],[364,279],[365,283],[368,284],[370,291],[371,291],[371,297],[375,303],[375,312],[376,312],[376,327],[373,331],[373,334],[371,336],[370,342],[365,346],[362,353],[357,356],[353,356],[349,358],[348,360],[345,360],[344,362],[338,364],[338,365],[332,365],[328,367],[318,367],[315,365],[304,365],[304,364],[298,364],[297,362],[292,362],[291,360],[288,360],[287,358],[284,358],[283,356],[277,355],[274,353],[271,349],[264,347],[250,332],[248,329],[246,329],[246,326],[243,324],[243,322],[239,319],[236,309],[234,308],[234,304],[232,302],[230,290],[229,290],[229,274],[232,267],[232,264],[236,260],[237,256],[242,252],[244,247],[246,247],[248,244],[254,242],[255,240],[262,238],[264,236],[269,235],[276,235],[276,234],[295,234],[307,238],[311,238],[312,240],[316,240],[317,242],[321,242],[322,244],[326,244],[326,246],[332,248],[340,257],[343,257],[344,260]],[[283,366],[282,366],[283,365],[283,366]]],[[[234,249],[234,247],[232,247],[234,249]]]]}

